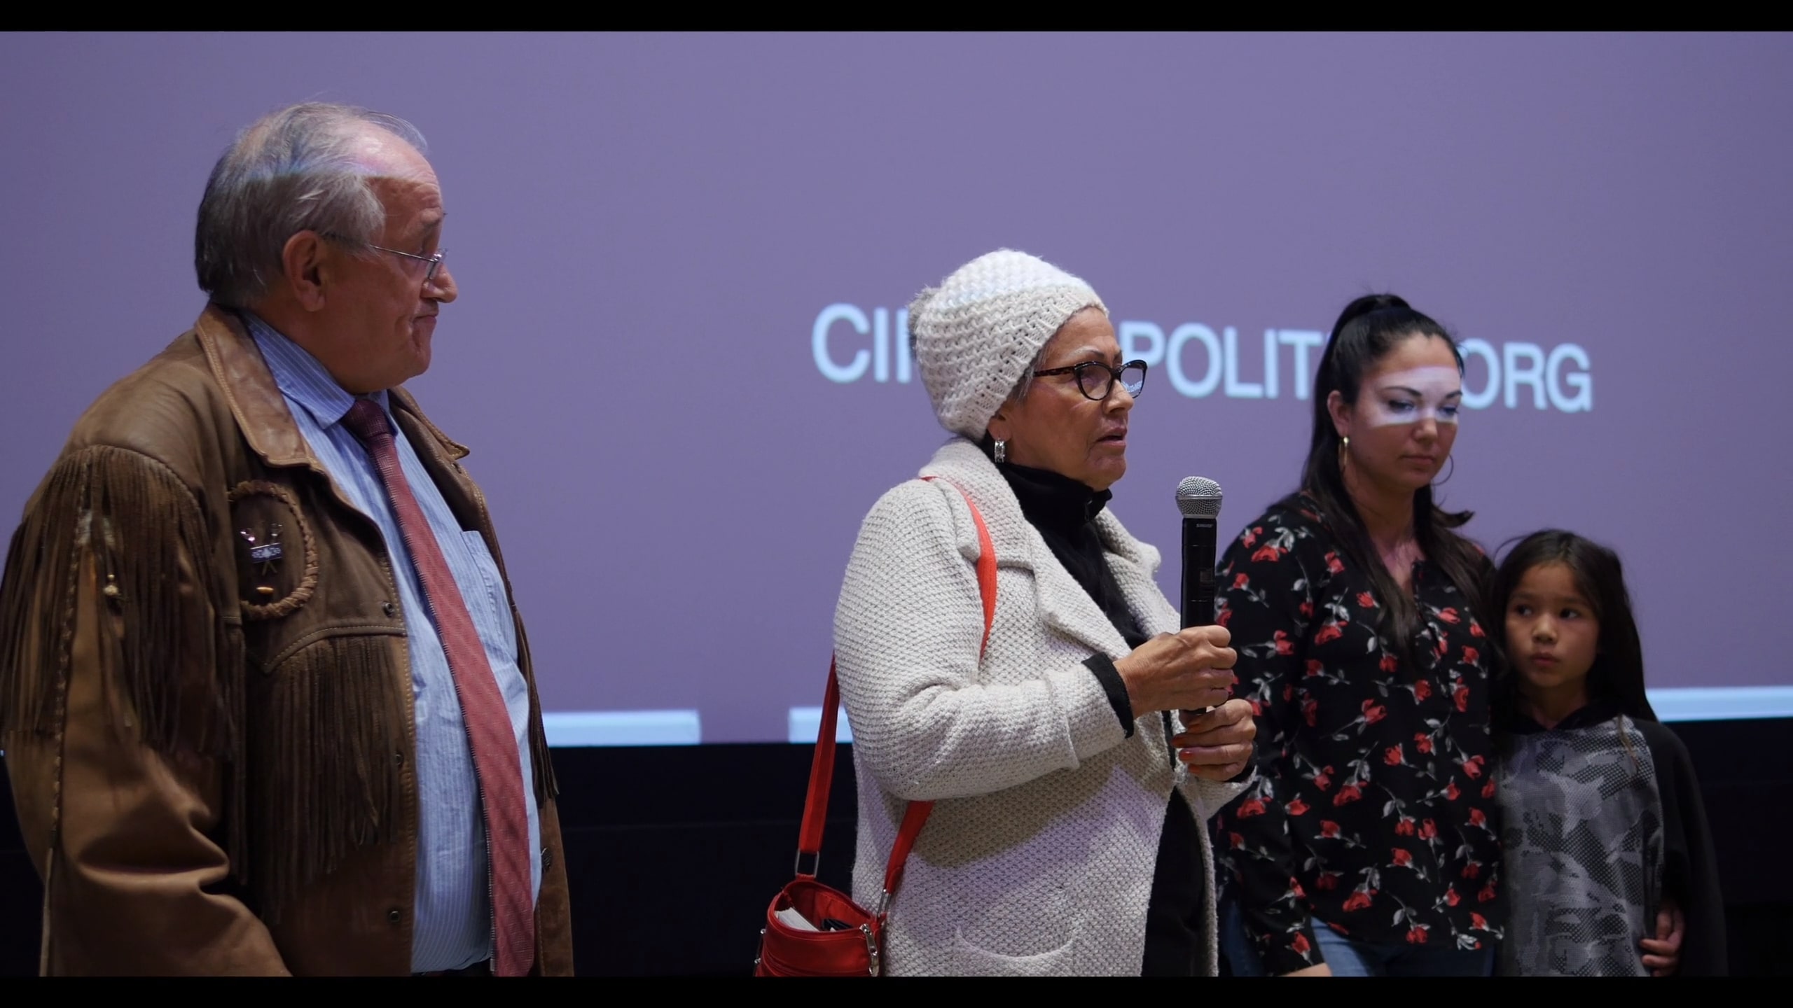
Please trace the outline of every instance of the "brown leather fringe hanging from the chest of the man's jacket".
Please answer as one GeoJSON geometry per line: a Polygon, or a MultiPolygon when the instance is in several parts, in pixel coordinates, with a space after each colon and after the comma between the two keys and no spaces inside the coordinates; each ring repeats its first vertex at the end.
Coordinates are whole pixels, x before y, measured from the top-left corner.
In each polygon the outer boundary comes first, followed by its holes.
{"type": "Polygon", "coordinates": [[[312,644],[255,678],[249,766],[262,768],[251,811],[251,891],[264,918],[335,872],[359,847],[389,841],[409,750],[409,710],[391,635],[312,644]]]}

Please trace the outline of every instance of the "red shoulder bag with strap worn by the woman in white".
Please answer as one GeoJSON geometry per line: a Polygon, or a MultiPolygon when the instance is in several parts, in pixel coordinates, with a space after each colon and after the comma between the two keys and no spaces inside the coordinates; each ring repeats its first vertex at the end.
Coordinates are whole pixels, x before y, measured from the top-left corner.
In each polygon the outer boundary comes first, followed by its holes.
{"type": "MultiPolygon", "coordinates": [[[[922,477],[932,479],[932,477],[922,477]]],[[[963,490],[959,491],[965,493],[963,490]]],[[[977,524],[977,594],[984,603],[984,639],[979,655],[990,644],[990,622],[997,613],[997,549],[977,504],[966,495],[977,524]]],[[[902,884],[902,868],[909,861],[914,838],[922,834],[932,802],[909,802],[904,809],[891,859],[884,868],[884,893],[879,909],[871,913],[853,902],[853,897],[816,881],[821,861],[821,829],[828,818],[828,789],[834,784],[834,726],[841,707],[841,683],[828,662],[828,692],[821,701],[821,730],[816,734],[816,759],[809,766],[809,798],[803,802],[803,830],[796,841],[796,879],[778,890],[766,908],[766,927],[760,929],[760,954],[753,960],[753,976],[880,976],[884,972],[884,920],[889,917],[891,897],[902,884]],[[803,856],[809,856],[809,872],[803,856]]]]}

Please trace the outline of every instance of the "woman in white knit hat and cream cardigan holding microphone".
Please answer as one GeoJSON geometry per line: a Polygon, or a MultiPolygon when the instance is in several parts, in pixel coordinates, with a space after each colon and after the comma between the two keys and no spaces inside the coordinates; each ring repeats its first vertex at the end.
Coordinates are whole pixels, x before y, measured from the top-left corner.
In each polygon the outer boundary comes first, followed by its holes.
{"type": "Polygon", "coordinates": [[[1239,791],[1252,708],[1226,700],[1228,633],[1178,631],[1158,551],[1106,509],[1146,366],[1088,283],[1008,249],[916,296],[909,330],[952,439],[866,515],[836,612],[861,906],[907,804],[936,802],[884,972],[1212,976],[1203,823],[1239,791]]]}

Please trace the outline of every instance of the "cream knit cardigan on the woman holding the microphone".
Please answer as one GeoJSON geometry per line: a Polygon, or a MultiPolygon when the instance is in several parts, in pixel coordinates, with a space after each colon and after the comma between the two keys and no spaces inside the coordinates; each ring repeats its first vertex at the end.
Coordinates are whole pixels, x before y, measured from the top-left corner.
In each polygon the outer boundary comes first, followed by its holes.
{"type": "MultiPolygon", "coordinates": [[[[977,445],[954,438],[866,515],[834,617],[859,773],[853,899],[877,908],[904,805],[934,800],[886,931],[888,974],[1139,974],[1173,787],[1198,816],[1207,891],[1200,969],[1217,969],[1205,820],[1244,784],[1189,777],[1160,714],[1126,737],[1083,660],[1128,653],[1103,610],[1022,517],[977,445]],[[957,490],[956,490],[957,488],[957,490]],[[997,552],[979,660],[977,502],[997,552]]],[[[1158,551],[1110,513],[1108,565],[1148,633],[1178,613],[1158,551]]]]}

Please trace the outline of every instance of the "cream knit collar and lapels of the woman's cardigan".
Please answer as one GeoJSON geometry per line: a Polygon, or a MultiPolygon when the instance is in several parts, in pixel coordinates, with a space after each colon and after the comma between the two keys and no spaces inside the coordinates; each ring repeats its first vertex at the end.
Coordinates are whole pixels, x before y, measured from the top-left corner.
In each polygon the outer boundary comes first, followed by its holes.
{"type": "MultiPolygon", "coordinates": [[[[990,529],[990,542],[997,551],[997,567],[1018,567],[1033,572],[1040,613],[1047,626],[1108,656],[1119,658],[1128,653],[1126,640],[1108,622],[1096,599],[1052,556],[1052,549],[1022,515],[1020,500],[1008,481],[977,445],[965,438],[947,441],[934,452],[920,475],[950,482],[977,504],[977,511],[990,529]]],[[[947,502],[954,515],[961,517],[959,551],[975,560],[977,531],[970,522],[970,513],[965,511],[963,500],[956,500],[957,493],[945,488],[943,493],[948,495],[947,502]]],[[[1153,581],[1158,572],[1158,551],[1135,540],[1106,508],[1096,517],[1096,533],[1108,551],[1108,565],[1126,595],[1128,608],[1139,619],[1140,630],[1146,633],[1176,630],[1174,615],[1153,581]]]]}

